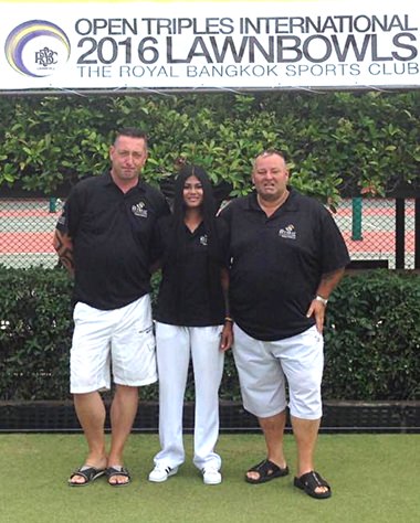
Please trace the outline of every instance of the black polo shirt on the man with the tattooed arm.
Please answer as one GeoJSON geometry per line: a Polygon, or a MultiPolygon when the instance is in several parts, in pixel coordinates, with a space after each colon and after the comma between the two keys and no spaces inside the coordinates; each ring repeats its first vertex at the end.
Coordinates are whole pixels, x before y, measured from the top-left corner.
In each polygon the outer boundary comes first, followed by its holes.
{"type": "Polygon", "coordinates": [[[73,241],[74,301],[111,310],[148,293],[153,228],[167,213],[164,195],[143,181],[125,194],[109,173],[78,182],[57,223],[73,241]]]}

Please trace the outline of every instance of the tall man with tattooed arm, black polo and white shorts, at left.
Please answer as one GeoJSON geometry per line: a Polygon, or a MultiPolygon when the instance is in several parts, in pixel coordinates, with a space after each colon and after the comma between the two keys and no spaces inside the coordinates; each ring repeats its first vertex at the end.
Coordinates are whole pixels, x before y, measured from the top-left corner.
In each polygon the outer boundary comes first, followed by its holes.
{"type": "Polygon", "coordinates": [[[86,485],[104,473],[111,485],[130,481],[125,442],[138,406],[138,386],[157,381],[150,309],[149,244],[157,218],[169,213],[159,191],[140,180],[147,137],[122,129],[109,148],[111,171],[77,183],[60,216],[54,247],[74,275],[71,392],[88,455],[69,479],[86,485]],[[112,442],[105,449],[105,406],[111,387],[112,442]]]}

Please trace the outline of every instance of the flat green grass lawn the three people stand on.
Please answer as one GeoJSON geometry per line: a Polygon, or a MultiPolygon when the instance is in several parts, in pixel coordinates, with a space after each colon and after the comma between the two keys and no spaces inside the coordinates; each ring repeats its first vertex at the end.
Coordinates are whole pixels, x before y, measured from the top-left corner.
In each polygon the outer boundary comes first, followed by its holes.
{"type": "Polygon", "coordinates": [[[157,435],[133,435],[126,466],[133,482],[111,488],[104,478],[84,488],[66,480],[82,463],[81,435],[0,435],[0,521],[50,522],[397,522],[419,521],[420,435],[321,435],[317,469],[330,482],[329,500],[313,500],[292,485],[295,445],[286,436],[291,474],[269,483],[243,481],[265,455],[261,435],[222,435],[223,482],[203,485],[187,461],[165,483],[147,474],[159,448],[157,435]]]}

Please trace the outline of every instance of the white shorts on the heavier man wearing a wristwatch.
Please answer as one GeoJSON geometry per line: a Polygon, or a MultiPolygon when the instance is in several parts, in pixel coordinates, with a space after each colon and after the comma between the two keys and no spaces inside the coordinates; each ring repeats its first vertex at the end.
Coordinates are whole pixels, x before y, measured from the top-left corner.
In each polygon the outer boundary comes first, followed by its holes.
{"type": "Polygon", "coordinates": [[[237,324],[233,334],[233,356],[246,410],[260,418],[283,412],[287,380],[291,415],[302,419],[322,417],[324,339],[315,325],[280,341],[255,340],[237,324]]]}

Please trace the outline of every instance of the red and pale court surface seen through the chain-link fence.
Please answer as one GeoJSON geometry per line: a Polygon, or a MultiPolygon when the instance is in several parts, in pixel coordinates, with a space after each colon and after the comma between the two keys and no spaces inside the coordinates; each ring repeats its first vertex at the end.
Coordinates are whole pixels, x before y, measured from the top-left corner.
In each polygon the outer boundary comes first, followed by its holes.
{"type": "MultiPolygon", "coordinates": [[[[54,267],[53,231],[62,209],[50,212],[48,199],[0,199],[0,264],[11,267],[54,267]]],[[[391,199],[363,201],[361,239],[353,236],[351,200],[343,200],[334,215],[353,260],[387,259],[395,267],[396,205],[391,199]]],[[[406,200],[406,268],[414,260],[414,201],[406,200]]]]}

